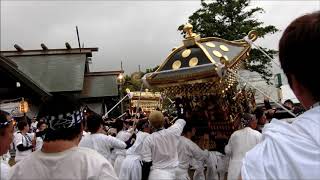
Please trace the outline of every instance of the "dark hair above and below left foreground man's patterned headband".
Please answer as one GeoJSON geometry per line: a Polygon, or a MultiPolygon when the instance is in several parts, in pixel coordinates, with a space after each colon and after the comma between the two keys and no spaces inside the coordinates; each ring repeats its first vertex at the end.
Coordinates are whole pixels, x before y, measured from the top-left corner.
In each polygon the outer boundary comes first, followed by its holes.
{"type": "MultiPolygon", "coordinates": [[[[46,118],[51,116],[58,116],[60,114],[72,113],[80,110],[80,103],[77,99],[65,95],[53,95],[46,99],[40,106],[38,118],[46,118]]],[[[50,120],[46,119],[49,128],[46,129],[44,141],[56,140],[74,140],[79,137],[83,126],[82,123],[74,124],[69,128],[51,129],[50,120]]]]}

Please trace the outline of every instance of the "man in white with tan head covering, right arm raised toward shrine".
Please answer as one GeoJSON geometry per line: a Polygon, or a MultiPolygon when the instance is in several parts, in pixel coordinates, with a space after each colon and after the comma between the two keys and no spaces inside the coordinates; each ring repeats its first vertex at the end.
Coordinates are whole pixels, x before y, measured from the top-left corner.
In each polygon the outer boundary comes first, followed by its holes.
{"type": "Polygon", "coordinates": [[[149,122],[155,131],[145,139],[142,148],[143,166],[152,163],[148,179],[174,180],[176,179],[176,168],[179,165],[178,140],[186,121],[178,119],[168,129],[164,129],[162,113],[153,111],[149,115],[149,122]]]}

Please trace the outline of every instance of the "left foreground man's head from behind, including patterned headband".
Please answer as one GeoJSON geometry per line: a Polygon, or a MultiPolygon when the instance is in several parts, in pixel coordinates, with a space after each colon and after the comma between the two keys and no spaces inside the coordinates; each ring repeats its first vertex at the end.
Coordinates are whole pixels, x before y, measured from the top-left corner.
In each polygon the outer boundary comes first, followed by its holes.
{"type": "Polygon", "coordinates": [[[38,118],[48,124],[44,141],[74,140],[82,132],[83,114],[77,99],[54,95],[40,106],[38,118]]]}

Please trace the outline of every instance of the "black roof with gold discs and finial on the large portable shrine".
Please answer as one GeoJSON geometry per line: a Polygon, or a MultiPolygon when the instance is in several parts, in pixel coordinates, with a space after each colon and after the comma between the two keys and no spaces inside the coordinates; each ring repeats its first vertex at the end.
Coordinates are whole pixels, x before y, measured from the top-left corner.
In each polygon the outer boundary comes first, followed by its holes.
{"type": "MultiPolygon", "coordinates": [[[[237,70],[251,50],[250,43],[245,40],[200,38],[192,32],[190,24],[185,26],[184,31],[187,35],[183,45],[173,49],[154,73],[145,75],[145,84],[162,88],[212,82],[225,76],[219,67],[237,70]]],[[[256,32],[249,32],[248,40],[256,39],[256,32]]]]}

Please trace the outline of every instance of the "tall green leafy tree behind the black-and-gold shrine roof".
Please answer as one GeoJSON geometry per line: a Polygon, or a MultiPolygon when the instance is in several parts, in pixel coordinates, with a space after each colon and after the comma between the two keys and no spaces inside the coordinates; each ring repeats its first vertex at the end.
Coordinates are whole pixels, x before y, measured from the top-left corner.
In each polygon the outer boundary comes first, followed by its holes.
{"type": "MultiPolygon", "coordinates": [[[[256,14],[264,13],[260,7],[250,8],[250,0],[214,0],[210,3],[201,0],[201,8],[189,17],[193,31],[201,37],[220,37],[227,40],[242,39],[251,30],[258,32],[258,38],[278,31],[275,26],[264,25],[255,18],[256,14]]],[[[183,25],[178,30],[182,31],[183,25]]],[[[184,32],[182,31],[182,34],[184,32]]],[[[263,48],[271,57],[275,50],[263,48]]],[[[271,61],[257,49],[252,49],[245,69],[258,72],[267,83],[272,73],[271,61]]]]}

